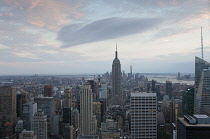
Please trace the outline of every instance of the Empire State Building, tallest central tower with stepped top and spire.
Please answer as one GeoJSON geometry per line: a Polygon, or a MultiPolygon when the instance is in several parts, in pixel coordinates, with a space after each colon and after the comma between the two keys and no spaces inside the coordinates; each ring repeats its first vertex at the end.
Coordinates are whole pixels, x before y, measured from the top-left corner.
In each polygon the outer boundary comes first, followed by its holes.
{"type": "Polygon", "coordinates": [[[121,64],[117,56],[117,48],[115,52],[115,59],[112,63],[112,104],[121,104],[121,64]]]}

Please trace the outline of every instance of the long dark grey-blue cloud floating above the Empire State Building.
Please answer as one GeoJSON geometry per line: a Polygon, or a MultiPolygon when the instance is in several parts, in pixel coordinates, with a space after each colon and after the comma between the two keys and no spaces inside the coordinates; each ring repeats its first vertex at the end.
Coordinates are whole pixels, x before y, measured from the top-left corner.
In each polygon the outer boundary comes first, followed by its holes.
{"type": "Polygon", "coordinates": [[[80,28],[75,24],[65,26],[58,33],[58,39],[66,43],[63,47],[70,47],[142,33],[158,26],[161,22],[162,19],[159,18],[113,17],[97,20],[80,28]]]}

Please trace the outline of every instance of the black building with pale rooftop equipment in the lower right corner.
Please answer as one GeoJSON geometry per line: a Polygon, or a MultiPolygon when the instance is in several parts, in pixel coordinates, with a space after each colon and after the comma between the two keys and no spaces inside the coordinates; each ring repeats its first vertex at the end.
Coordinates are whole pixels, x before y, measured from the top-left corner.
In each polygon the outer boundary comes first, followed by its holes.
{"type": "Polygon", "coordinates": [[[210,117],[184,115],[177,120],[177,139],[209,139],[210,117]]]}

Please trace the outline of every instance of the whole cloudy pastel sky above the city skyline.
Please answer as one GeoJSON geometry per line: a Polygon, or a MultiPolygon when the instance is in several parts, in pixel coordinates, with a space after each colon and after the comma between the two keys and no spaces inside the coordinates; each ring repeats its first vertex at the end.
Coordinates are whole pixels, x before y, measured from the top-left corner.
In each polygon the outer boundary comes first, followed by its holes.
{"type": "Polygon", "coordinates": [[[0,75],[194,73],[209,0],[0,0],[0,75]]]}

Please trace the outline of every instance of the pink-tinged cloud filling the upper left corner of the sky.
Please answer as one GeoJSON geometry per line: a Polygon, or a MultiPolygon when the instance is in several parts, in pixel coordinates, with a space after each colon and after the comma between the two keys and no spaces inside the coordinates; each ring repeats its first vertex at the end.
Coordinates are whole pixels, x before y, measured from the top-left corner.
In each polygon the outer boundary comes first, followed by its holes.
{"type": "Polygon", "coordinates": [[[1,19],[59,30],[64,24],[83,16],[74,0],[1,0],[1,19]]]}

